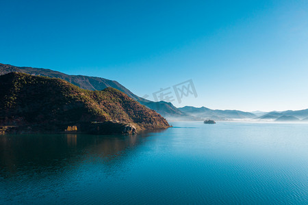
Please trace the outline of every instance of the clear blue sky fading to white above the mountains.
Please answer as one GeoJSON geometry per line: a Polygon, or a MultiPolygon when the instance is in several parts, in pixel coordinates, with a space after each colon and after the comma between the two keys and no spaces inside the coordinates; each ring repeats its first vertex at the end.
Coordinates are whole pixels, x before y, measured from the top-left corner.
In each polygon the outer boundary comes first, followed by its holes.
{"type": "Polygon", "coordinates": [[[192,79],[177,107],[308,108],[308,1],[0,0],[0,62],[116,80],[192,79]]]}

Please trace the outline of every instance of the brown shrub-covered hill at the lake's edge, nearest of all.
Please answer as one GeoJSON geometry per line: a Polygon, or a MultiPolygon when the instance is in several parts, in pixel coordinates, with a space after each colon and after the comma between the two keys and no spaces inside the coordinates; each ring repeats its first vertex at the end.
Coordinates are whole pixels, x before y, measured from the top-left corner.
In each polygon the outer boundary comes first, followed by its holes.
{"type": "Polygon", "coordinates": [[[161,115],[112,87],[90,91],[62,79],[21,72],[0,76],[0,125],[55,132],[109,128],[110,133],[118,133],[116,128],[169,126],[161,115]]]}

